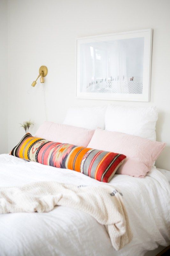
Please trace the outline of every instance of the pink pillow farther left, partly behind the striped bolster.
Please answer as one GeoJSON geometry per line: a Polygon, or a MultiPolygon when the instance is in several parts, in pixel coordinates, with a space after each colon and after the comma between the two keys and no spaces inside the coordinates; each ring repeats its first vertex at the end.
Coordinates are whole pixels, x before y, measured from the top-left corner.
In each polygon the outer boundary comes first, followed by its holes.
{"type": "Polygon", "coordinates": [[[35,137],[87,147],[88,143],[92,139],[93,133],[94,130],[81,127],[44,122],[35,133],[35,137]]]}

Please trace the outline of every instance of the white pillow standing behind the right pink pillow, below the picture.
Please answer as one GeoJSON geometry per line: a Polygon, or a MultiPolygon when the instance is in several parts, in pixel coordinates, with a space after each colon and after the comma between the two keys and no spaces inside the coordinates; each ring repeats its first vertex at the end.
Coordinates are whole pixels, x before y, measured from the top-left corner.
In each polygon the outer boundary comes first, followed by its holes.
{"type": "Polygon", "coordinates": [[[106,110],[105,130],[156,140],[155,126],[157,119],[156,107],[110,105],[106,110]]]}

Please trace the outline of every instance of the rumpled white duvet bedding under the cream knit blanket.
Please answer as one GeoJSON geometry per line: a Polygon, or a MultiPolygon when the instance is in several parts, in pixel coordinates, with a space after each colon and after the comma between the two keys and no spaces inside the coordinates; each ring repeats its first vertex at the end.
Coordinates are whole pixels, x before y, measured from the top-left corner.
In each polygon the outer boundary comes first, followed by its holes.
{"type": "MultiPolygon", "coordinates": [[[[70,170],[0,155],[0,186],[55,180],[74,185],[99,181],[70,170]]],[[[112,255],[142,256],[170,244],[170,186],[152,168],[144,179],[115,175],[110,183],[122,192],[133,233],[132,241],[116,252],[104,226],[90,215],[58,206],[48,213],[0,215],[0,256],[112,255]]]]}

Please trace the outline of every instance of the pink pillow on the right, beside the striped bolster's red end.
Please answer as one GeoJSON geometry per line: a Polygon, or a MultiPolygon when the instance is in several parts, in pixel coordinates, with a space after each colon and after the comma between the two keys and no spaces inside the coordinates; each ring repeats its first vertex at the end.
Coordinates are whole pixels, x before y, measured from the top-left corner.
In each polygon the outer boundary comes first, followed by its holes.
{"type": "Polygon", "coordinates": [[[87,147],[121,152],[127,158],[116,173],[144,178],[146,173],[151,170],[153,162],[164,149],[165,143],[98,128],[87,147]]]}

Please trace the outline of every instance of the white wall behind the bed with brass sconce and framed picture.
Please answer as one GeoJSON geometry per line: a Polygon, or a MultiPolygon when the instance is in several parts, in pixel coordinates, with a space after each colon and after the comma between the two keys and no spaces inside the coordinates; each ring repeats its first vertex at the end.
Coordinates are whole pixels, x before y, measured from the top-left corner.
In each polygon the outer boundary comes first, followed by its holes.
{"type": "Polygon", "coordinates": [[[157,140],[167,143],[157,166],[170,170],[170,1],[9,0],[9,150],[31,118],[44,121],[43,92],[27,94],[41,65],[48,67],[48,120],[62,122],[70,105],[149,106],[159,109],[157,140]],[[78,100],[76,38],[153,28],[151,102],[78,100]]]}

